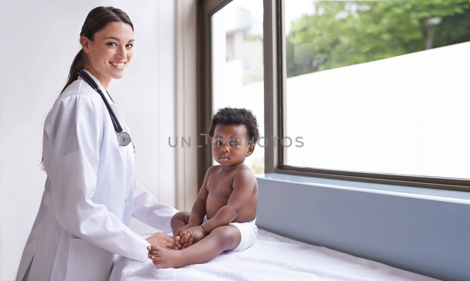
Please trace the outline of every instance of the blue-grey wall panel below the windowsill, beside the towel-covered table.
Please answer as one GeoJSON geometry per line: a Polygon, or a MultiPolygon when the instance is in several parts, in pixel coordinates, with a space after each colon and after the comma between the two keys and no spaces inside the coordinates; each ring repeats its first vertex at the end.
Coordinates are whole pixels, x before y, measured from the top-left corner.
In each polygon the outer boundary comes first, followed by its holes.
{"type": "Polygon", "coordinates": [[[442,280],[470,280],[470,205],[258,178],[257,225],[442,280]]]}

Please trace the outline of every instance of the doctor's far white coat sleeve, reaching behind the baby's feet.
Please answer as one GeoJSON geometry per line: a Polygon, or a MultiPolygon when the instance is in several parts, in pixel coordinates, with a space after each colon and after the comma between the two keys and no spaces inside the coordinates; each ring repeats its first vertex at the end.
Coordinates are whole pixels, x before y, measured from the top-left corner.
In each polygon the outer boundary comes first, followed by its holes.
{"type": "Polygon", "coordinates": [[[171,231],[170,221],[178,210],[160,203],[157,198],[146,190],[139,182],[135,181],[134,204],[132,216],[151,227],[163,232],[171,231]]]}

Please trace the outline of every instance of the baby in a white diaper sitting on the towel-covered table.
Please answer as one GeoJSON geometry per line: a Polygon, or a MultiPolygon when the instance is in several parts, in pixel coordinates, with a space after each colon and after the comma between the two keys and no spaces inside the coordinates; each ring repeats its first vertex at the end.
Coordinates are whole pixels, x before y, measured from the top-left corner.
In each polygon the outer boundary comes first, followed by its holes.
{"type": "Polygon", "coordinates": [[[222,108],[209,130],[210,167],[191,213],[176,213],[171,221],[174,250],[149,246],[149,258],[159,268],[204,263],[223,251],[243,251],[256,240],[258,182],[243,164],[258,141],[258,123],[250,110],[222,108]]]}

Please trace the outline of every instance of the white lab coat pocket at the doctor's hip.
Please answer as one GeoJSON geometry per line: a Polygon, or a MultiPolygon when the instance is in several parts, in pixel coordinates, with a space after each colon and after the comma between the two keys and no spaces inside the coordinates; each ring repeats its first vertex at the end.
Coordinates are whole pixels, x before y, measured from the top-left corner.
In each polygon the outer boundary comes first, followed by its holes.
{"type": "Polygon", "coordinates": [[[110,278],[113,260],[113,253],[81,238],[70,238],[65,281],[107,281],[110,278]]]}

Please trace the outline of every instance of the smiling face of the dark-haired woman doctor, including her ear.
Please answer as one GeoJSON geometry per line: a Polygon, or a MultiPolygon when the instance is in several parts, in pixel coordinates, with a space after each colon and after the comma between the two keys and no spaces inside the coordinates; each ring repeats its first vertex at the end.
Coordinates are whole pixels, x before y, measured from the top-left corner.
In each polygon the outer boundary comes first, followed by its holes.
{"type": "Polygon", "coordinates": [[[94,34],[93,42],[82,36],[80,42],[91,64],[87,70],[104,84],[109,84],[111,78],[122,78],[132,59],[133,35],[129,24],[112,22],[94,34]]]}

